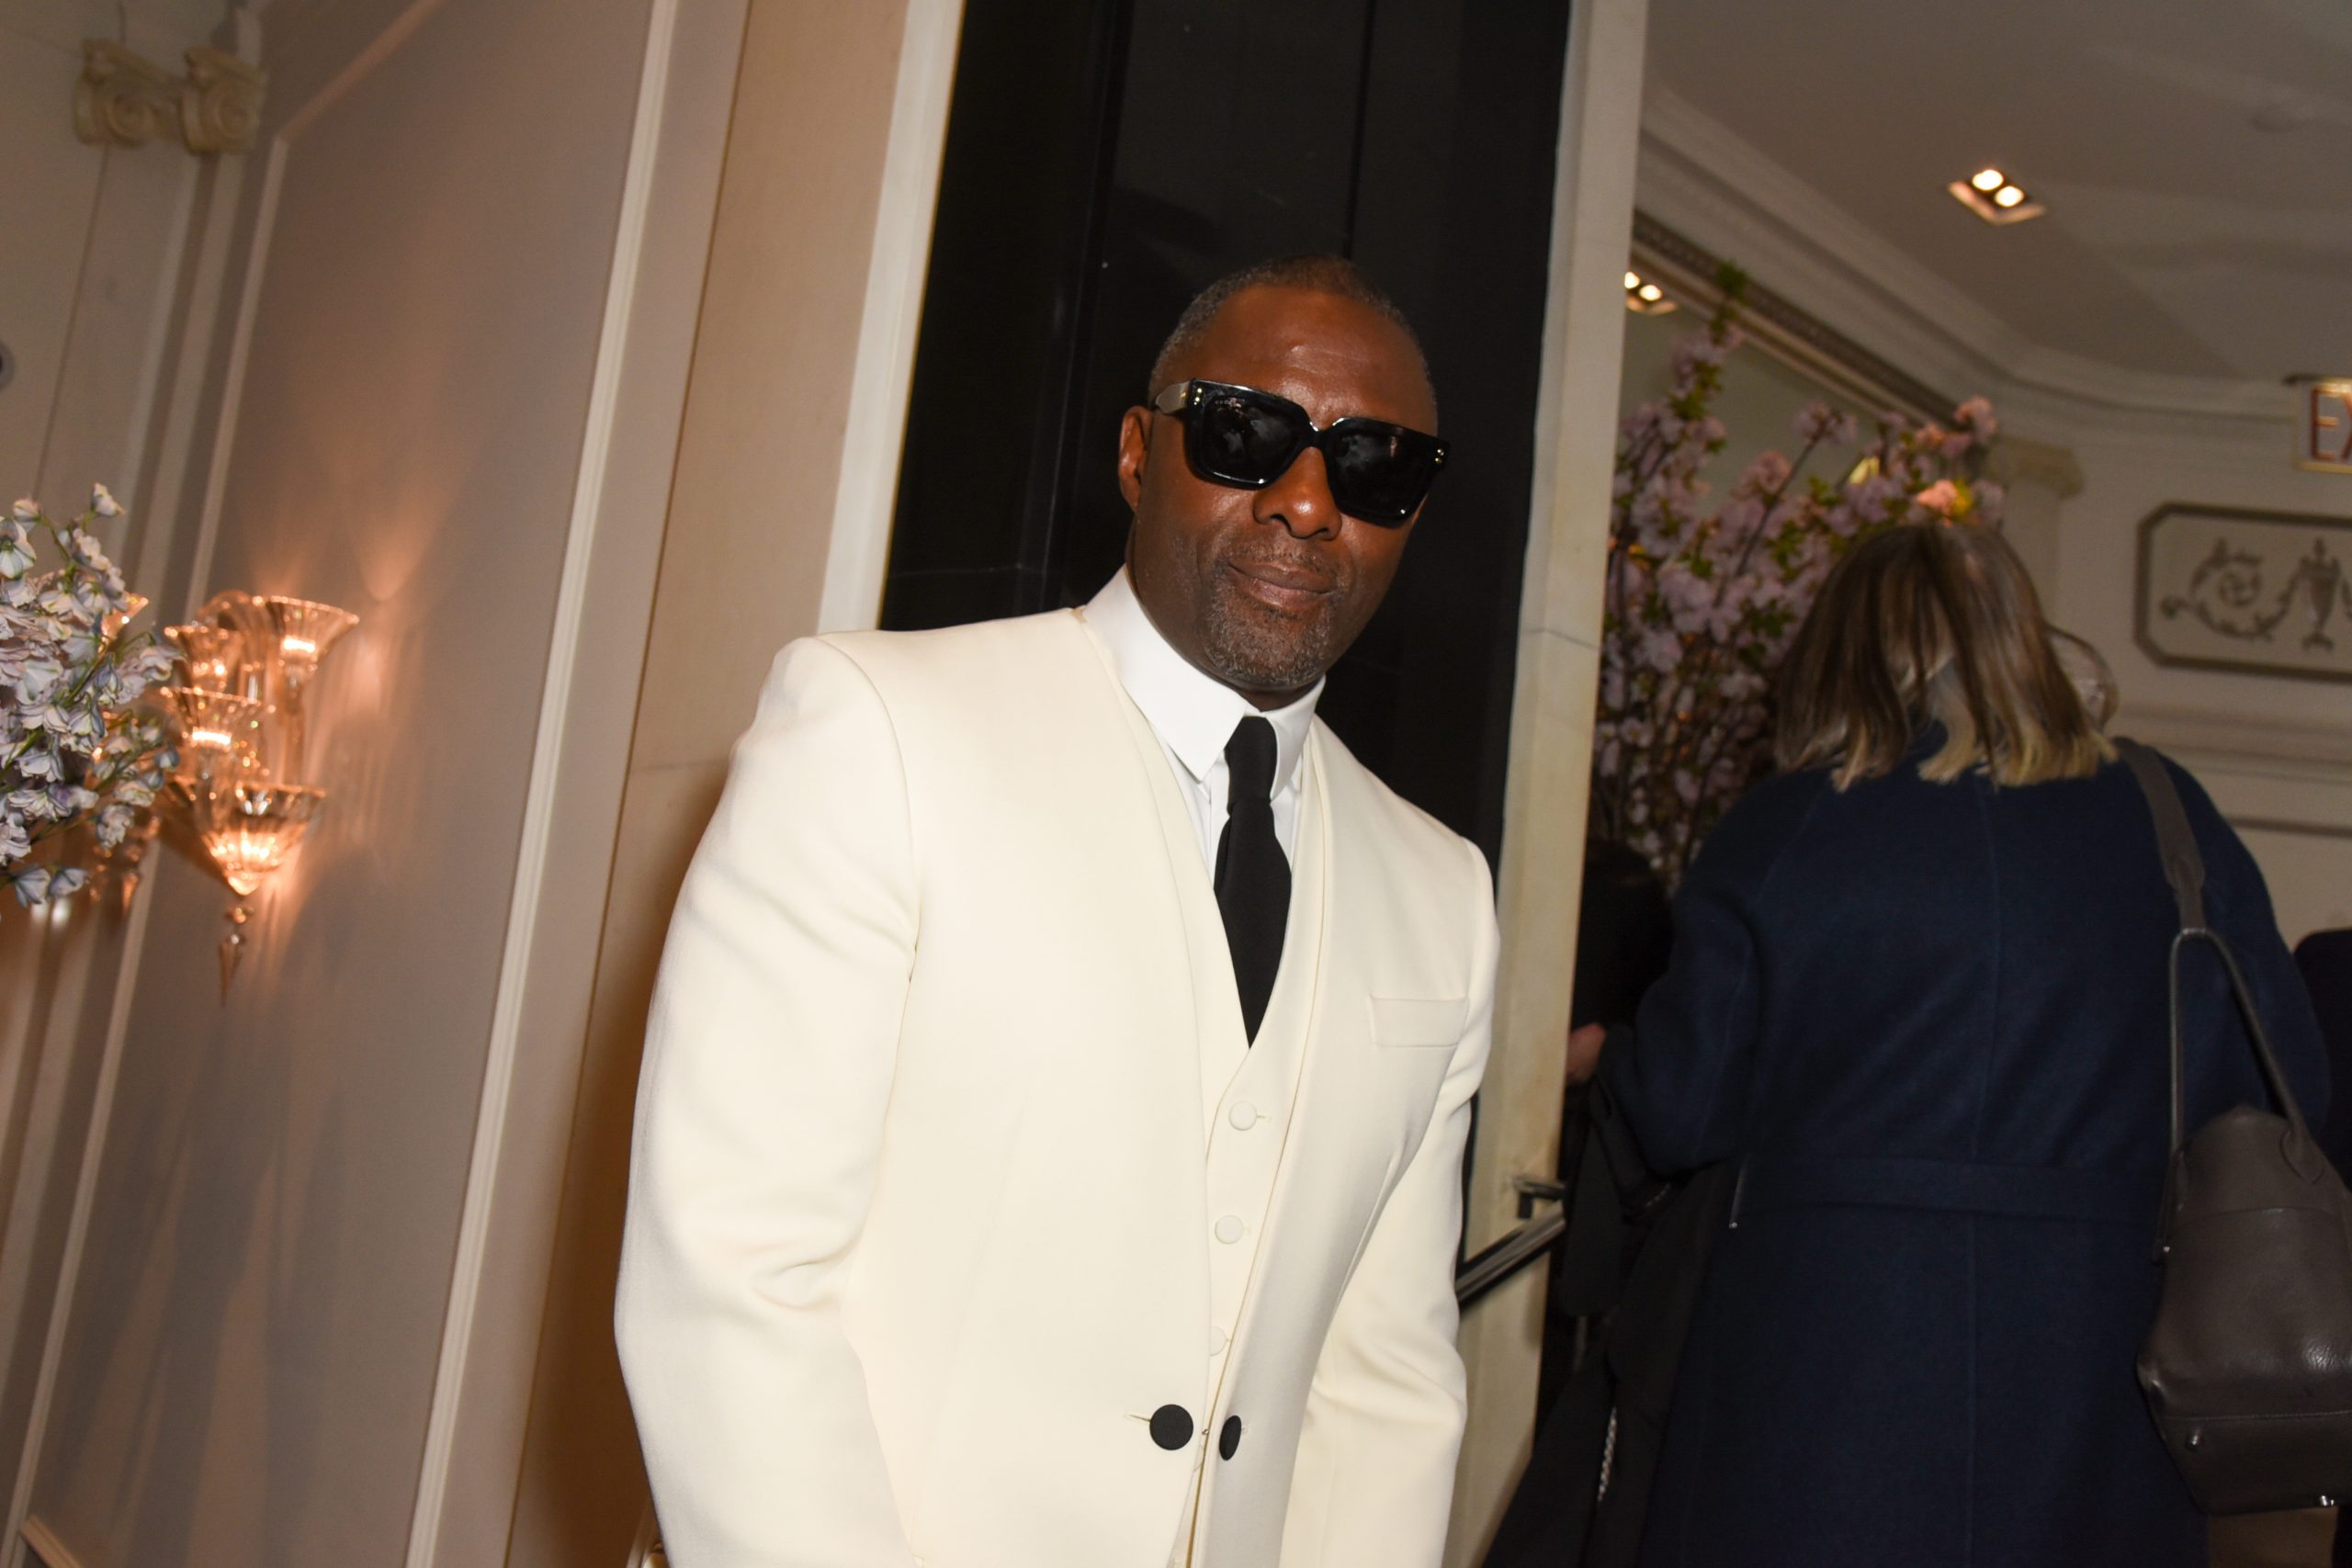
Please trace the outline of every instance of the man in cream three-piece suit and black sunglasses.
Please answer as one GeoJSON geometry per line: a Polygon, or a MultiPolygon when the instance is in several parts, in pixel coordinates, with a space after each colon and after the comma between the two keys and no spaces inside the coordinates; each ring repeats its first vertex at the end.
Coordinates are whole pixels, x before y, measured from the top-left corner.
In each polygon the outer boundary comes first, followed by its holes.
{"type": "Polygon", "coordinates": [[[675,1568],[1430,1568],[1486,863],[1315,719],[1444,463],[1338,259],[1185,313],[1077,611],[788,646],[654,999],[675,1568]]]}

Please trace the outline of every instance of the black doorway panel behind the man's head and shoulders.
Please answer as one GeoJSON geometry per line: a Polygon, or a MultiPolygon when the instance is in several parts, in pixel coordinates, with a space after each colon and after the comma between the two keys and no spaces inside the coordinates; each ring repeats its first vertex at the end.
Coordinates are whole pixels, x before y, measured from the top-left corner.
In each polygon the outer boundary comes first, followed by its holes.
{"type": "Polygon", "coordinates": [[[1491,860],[1566,31],[1564,0],[969,0],[882,625],[1094,595],[1120,414],[1183,303],[1352,256],[1418,327],[1456,461],[1319,712],[1491,860]]]}

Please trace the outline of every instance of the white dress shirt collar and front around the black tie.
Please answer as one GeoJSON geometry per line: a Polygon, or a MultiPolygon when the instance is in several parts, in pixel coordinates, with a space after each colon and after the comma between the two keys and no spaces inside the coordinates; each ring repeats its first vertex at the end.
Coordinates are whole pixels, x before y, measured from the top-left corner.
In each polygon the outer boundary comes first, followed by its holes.
{"type": "Polygon", "coordinates": [[[1127,581],[1127,567],[1110,578],[1094,599],[1087,602],[1087,625],[1110,649],[1110,663],[1120,672],[1127,696],[1143,710],[1143,719],[1160,736],[1169,769],[1176,773],[1176,790],[1192,813],[1192,830],[1200,837],[1200,858],[1216,875],[1216,842],[1225,835],[1225,743],[1232,729],[1256,715],[1275,726],[1275,837],[1282,853],[1298,863],[1298,757],[1308,745],[1308,729],[1315,724],[1315,698],[1322,682],[1291,703],[1272,712],[1258,708],[1214,675],[1169,646],[1160,628],[1143,611],[1136,585],[1127,581]]]}

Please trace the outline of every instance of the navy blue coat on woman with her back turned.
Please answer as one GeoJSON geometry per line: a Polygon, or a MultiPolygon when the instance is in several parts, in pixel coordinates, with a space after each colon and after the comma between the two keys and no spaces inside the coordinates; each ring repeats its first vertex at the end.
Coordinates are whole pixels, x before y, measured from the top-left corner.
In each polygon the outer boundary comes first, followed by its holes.
{"type": "MultiPolygon", "coordinates": [[[[2209,919],[2317,1121],[2326,1063],[2270,893],[2173,776],[2209,919]]],[[[1722,820],[1606,1065],[1656,1168],[1740,1161],[1644,1568],[2206,1561],[2133,1378],[2173,926],[2122,764],[2009,790],[1792,773],[1722,820]]],[[[2197,1126],[2263,1091],[2218,964],[2190,976],[2197,1126]]]]}

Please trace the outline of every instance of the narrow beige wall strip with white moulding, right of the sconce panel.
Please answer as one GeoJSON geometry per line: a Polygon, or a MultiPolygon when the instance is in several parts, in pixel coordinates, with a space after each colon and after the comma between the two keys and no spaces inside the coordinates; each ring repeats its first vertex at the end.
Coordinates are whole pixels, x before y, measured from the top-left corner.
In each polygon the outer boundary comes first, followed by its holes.
{"type": "MultiPolygon", "coordinates": [[[[412,1563],[428,1537],[435,1563],[494,1563],[517,1509],[536,1505],[520,1495],[522,1455],[637,717],[616,693],[633,696],[644,668],[661,562],[649,520],[663,517],[673,487],[743,14],[746,0],[654,5],[567,559],[576,595],[557,618],[567,658],[550,668],[541,715],[543,778],[524,818],[515,950],[485,1074],[412,1563]]],[[[553,1375],[562,1382],[567,1368],[553,1375]]]]}

